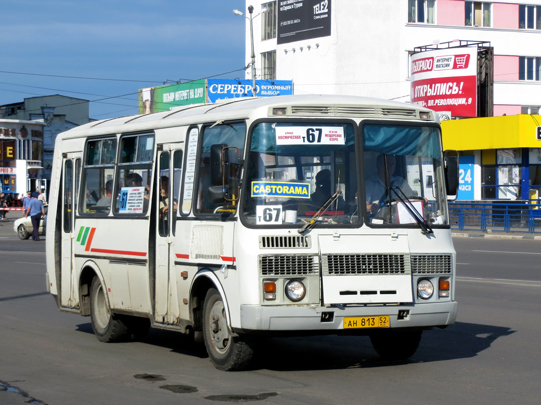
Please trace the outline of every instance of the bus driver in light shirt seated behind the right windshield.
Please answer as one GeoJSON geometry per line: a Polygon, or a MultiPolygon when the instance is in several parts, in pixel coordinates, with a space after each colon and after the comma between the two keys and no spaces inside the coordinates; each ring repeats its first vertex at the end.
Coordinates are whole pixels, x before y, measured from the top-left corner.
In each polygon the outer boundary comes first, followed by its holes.
{"type": "MultiPolygon", "coordinates": [[[[385,155],[380,153],[376,158],[377,173],[366,179],[366,211],[370,214],[378,212],[382,203],[388,199],[387,196],[387,176],[390,181],[389,186],[398,187],[408,198],[412,198],[414,193],[407,181],[400,177],[394,176],[394,170],[397,165],[397,160],[392,154],[385,155]],[[387,156],[387,167],[385,166],[385,156],[387,156]]],[[[392,198],[398,198],[395,191],[391,192],[392,198]]],[[[400,197],[403,197],[399,193],[400,197]]],[[[426,199],[424,199],[426,200],[426,199]]]]}

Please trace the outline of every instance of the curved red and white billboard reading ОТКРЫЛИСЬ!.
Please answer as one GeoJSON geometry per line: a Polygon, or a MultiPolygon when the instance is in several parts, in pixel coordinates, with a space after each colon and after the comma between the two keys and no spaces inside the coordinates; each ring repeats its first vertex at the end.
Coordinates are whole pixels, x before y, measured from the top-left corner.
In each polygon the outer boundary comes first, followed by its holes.
{"type": "Polygon", "coordinates": [[[477,117],[477,47],[414,53],[411,102],[453,117],[477,117]]]}

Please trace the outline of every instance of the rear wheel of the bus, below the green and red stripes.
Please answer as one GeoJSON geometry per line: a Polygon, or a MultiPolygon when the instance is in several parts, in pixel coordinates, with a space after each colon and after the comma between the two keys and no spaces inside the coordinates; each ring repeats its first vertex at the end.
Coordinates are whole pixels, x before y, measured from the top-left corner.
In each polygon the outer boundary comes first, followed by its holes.
{"type": "Polygon", "coordinates": [[[127,337],[128,327],[111,314],[105,300],[105,290],[97,276],[90,289],[90,319],[94,334],[101,342],[118,342],[127,337]]]}

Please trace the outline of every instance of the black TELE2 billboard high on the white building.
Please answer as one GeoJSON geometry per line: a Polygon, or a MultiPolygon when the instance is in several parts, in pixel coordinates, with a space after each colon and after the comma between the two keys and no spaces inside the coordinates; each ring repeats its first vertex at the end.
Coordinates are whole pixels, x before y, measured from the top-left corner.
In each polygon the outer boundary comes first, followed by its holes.
{"type": "Polygon", "coordinates": [[[331,35],[331,0],[278,0],[278,44],[331,35]]]}

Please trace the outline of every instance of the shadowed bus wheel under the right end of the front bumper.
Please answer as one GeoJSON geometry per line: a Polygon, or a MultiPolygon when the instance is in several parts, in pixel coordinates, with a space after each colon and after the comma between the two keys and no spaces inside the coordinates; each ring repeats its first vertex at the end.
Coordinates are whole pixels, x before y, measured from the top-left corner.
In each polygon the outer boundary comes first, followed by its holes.
{"type": "Polygon", "coordinates": [[[382,359],[406,360],[417,351],[421,334],[422,330],[378,330],[370,334],[370,341],[382,359]]]}

